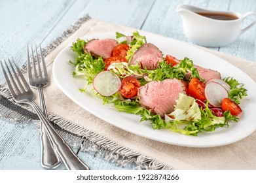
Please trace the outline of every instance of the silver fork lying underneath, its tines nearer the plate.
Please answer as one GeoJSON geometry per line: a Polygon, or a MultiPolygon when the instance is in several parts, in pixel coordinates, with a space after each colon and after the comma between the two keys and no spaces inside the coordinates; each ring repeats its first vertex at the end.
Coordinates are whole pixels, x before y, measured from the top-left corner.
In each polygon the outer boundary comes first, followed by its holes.
{"type": "MultiPolygon", "coordinates": [[[[43,88],[49,84],[48,81],[48,74],[45,65],[45,59],[43,57],[41,45],[40,48],[40,58],[41,63],[43,65],[43,73],[41,71],[41,64],[39,59],[39,54],[37,52],[37,46],[35,45],[35,53],[37,59],[37,67],[35,65],[35,57],[33,52],[33,47],[31,46],[31,53],[32,53],[32,63],[33,63],[33,73],[31,69],[31,61],[29,56],[29,48],[27,46],[27,73],[29,78],[29,85],[33,88],[37,88],[39,92],[39,101],[40,107],[45,114],[45,117],[48,119],[47,110],[45,106],[45,99],[43,95],[43,88]],[[36,69],[37,68],[37,69],[36,69]]],[[[46,169],[55,169],[61,163],[56,150],[54,150],[54,146],[50,141],[48,135],[46,134],[45,127],[43,127],[42,122],[40,124],[40,134],[41,134],[41,165],[46,169]]]]}

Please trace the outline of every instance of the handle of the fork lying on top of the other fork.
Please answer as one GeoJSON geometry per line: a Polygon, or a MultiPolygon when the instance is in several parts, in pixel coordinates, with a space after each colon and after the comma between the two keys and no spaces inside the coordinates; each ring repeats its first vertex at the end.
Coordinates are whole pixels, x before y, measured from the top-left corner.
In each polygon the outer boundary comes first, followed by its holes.
{"type": "Polygon", "coordinates": [[[58,135],[52,124],[45,118],[45,115],[40,110],[40,108],[35,104],[33,101],[27,102],[37,115],[39,116],[41,122],[43,122],[43,125],[45,126],[46,133],[48,137],[50,138],[50,141],[54,144],[60,158],[64,162],[65,166],[69,170],[88,170],[89,167],[85,165],[81,159],[71,150],[71,148],[66,144],[64,139],[58,135]]]}

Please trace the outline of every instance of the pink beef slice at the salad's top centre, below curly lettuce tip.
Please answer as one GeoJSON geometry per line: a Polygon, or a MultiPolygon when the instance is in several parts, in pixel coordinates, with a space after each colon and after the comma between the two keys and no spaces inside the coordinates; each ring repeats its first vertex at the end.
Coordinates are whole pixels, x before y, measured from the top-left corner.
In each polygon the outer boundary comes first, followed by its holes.
{"type": "Polygon", "coordinates": [[[162,61],[162,52],[151,43],[143,44],[132,57],[131,64],[139,63],[141,69],[156,69],[158,62],[162,61]]]}

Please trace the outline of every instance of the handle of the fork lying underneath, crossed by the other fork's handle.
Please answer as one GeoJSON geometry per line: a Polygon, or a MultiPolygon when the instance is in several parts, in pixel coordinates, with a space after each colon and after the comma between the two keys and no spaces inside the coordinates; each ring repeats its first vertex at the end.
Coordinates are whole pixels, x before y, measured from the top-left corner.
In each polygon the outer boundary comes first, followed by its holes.
{"type": "MultiPolygon", "coordinates": [[[[39,92],[39,99],[40,99],[40,108],[43,114],[45,115],[45,118],[48,119],[46,106],[45,106],[45,99],[43,95],[43,88],[38,88],[38,92],[39,92]]],[[[46,169],[55,169],[60,165],[62,161],[60,161],[60,158],[56,150],[54,150],[54,146],[50,141],[42,122],[40,123],[40,133],[41,133],[41,165],[46,169]]]]}

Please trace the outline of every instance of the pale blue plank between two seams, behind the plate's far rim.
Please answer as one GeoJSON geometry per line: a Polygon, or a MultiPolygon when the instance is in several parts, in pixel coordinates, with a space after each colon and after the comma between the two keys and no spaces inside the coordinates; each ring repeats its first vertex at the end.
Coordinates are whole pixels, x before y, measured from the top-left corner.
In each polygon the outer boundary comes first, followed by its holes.
{"type": "Polygon", "coordinates": [[[75,1],[72,7],[65,12],[65,16],[62,16],[58,20],[58,24],[56,24],[54,29],[50,30],[45,39],[43,39],[42,45],[45,46],[48,42],[60,36],[65,29],[84,14],[89,14],[92,18],[98,20],[139,29],[147,16],[147,12],[149,12],[152,7],[153,2],[153,0],[88,1],[87,3],[83,0],[75,1]],[[143,5],[143,9],[141,9],[140,7],[143,5]]]}

